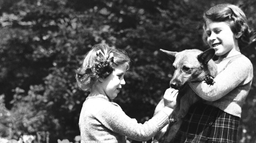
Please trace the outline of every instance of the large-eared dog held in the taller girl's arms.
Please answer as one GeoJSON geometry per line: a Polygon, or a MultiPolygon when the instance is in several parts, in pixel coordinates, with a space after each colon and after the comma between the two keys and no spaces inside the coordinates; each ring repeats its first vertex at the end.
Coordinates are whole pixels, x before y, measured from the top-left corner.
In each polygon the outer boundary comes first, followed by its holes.
{"type": "MultiPolygon", "coordinates": [[[[193,90],[189,87],[188,82],[201,82],[207,79],[208,84],[214,84],[214,81],[208,77],[217,75],[217,66],[212,60],[215,50],[208,49],[204,52],[191,49],[181,52],[170,52],[160,49],[173,62],[173,77],[170,80],[170,87],[179,90],[176,107],[170,116],[170,124],[159,131],[154,139],[159,142],[169,142],[179,130],[183,118],[189,107],[200,101],[193,90]],[[210,82],[209,82],[210,81],[210,82]],[[177,122],[175,122],[177,121],[177,122]]],[[[155,114],[164,107],[163,99],[159,102],[155,109],[155,114]]]]}

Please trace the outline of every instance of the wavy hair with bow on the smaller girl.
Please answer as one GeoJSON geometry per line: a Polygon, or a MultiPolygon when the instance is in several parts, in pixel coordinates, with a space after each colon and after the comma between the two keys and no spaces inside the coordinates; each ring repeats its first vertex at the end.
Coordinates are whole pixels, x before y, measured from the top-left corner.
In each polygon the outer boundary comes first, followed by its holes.
{"type": "Polygon", "coordinates": [[[77,69],[78,87],[90,91],[98,78],[107,78],[119,65],[130,68],[130,58],[124,50],[97,44],[85,55],[83,65],[77,69]]]}

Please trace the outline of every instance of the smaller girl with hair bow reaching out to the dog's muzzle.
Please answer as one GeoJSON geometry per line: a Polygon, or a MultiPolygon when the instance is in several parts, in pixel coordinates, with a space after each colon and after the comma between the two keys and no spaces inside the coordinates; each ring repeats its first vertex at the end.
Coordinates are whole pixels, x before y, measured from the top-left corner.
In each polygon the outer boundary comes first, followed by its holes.
{"type": "Polygon", "coordinates": [[[144,124],[131,119],[118,104],[111,102],[125,85],[129,63],[126,52],[106,44],[93,46],[85,56],[76,75],[78,86],[90,91],[79,118],[81,143],[126,143],[126,137],[145,141],[169,123],[169,107],[173,108],[174,102],[168,100],[167,92],[166,106],[144,124]]]}

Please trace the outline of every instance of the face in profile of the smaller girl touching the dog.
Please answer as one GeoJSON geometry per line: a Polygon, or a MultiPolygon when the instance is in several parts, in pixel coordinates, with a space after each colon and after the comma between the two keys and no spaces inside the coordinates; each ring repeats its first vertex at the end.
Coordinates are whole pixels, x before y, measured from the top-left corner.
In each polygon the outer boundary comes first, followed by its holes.
{"type": "Polygon", "coordinates": [[[102,79],[103,94],[110,99],[117,97],[123,85],[125,85],[124,75],[126,64],[118,66],[106,79],[102,79]]]}

